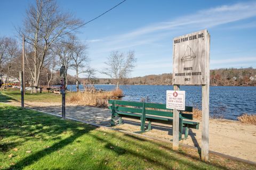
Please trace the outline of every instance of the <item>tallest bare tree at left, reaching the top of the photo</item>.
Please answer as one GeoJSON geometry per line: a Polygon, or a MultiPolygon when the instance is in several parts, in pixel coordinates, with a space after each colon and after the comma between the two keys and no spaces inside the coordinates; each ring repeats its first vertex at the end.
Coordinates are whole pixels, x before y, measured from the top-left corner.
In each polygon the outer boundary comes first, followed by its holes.
{"type": "Polygon", "coordinates": [[[81,21],[74,19],[69,13],[59,11],[53,0],[36,0],[27,10],[27,16],[19,28],[19,35],[25,35],[26,42],[33,48],[29,59],[33,63],[29,70],[33,78],[34,89],[37,92],[39,78],[43,69],[45,56],[53,43],[64,38],[67,31],[74,29],[81,21]]]}

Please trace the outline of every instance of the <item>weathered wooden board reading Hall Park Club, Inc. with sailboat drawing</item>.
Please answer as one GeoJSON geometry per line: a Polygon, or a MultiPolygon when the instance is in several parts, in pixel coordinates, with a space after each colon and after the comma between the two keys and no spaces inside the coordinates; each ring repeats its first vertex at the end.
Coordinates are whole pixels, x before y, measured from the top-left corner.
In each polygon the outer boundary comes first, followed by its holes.
{"type": "Polygon", "coordinates": [[[203,85],[207,83],[210,35],[207,30],[173,39],[173,84],[203,85]]]}

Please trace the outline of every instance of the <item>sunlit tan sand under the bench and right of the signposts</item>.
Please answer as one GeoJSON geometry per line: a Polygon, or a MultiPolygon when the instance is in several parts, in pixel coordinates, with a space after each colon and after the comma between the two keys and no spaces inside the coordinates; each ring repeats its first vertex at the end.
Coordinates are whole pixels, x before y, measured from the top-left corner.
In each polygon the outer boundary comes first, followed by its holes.
{"type": "MultiPolygon", "coordinates": [[[[124,124],[117,125],[115,128],[129,132],[140,131],[140,122],[129,119],[125,120],[127,121],[124,121],[124,124]]],[[[181,140],[180,143],[200,147],[201,132],[202,123],[199,125],[199,130],[190,129],[188,138],[181,140]]],[[[210,150],[252,162],[256,161],[256,125],[244,124],[238,121],[211,119],[209,133],[210,150]]],[[[153,123],[152,130],[143,134],[171,140],[172,125],[153,123]]],[[[182,137],[184,137],[184,133],[182,137]]]]}

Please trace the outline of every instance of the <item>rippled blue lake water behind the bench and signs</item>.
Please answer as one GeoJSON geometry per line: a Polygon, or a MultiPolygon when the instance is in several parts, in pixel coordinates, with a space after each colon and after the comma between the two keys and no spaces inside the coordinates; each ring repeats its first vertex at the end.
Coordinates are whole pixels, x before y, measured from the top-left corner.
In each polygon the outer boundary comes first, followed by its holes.
{"type": "MultiPolygon", "coordinates": [[[[83,89],[83,86],[80,86],[83,89]]],[[[113,90],[114,85],[95,85],[97,89],[113,90]]],[[[123,85],[120,86],[125,97],[122,100],[166,103],[166,90],[173,90],[173,86],[123,85]]],[[[76,91],[75,85],[68,89],[76,91]],[[71,88],[71,89],[70,89],[71,88]]],[[[202,109],[202,87],[181,86],[186,91],[186,105],[202,109]]],[[[211,86],[210,87],[210,115],[237,120],[237,116],[248,113],[256,114],[256,87],[211,86]]]]}

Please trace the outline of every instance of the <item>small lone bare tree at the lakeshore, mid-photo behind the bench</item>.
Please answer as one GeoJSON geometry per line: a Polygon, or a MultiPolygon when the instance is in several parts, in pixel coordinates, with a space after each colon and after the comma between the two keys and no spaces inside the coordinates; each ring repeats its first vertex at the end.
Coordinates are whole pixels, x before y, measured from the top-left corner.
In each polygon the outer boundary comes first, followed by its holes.
{"type": "Polygon", "coordinates": [[[108,75],[111,79],[115,80],[116,90],[119,89],[121,80],[127,78],[132,69],[135,66],[137,59],[134,57],[134,52],[129,51],[127,55],[118,51],[111,52],[107,58],[106,69],[102,71],[102,74],[108,75]]]}

